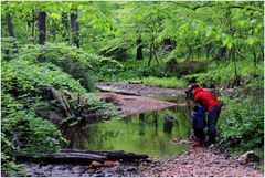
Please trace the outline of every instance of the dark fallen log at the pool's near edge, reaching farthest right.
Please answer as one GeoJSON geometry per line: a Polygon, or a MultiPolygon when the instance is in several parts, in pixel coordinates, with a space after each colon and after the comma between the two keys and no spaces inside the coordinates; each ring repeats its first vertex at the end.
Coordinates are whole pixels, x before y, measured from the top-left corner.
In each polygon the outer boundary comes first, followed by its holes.
{"type": "Polygon", "coordinates": [[[149,156],[139,153],[126,153],[124,150],[78,150],[78,149],[62,149],[61,153],[86,153],[93,155],[106,156],[108,160],[130,160],[130,159],[146,159],[149,156]]]}

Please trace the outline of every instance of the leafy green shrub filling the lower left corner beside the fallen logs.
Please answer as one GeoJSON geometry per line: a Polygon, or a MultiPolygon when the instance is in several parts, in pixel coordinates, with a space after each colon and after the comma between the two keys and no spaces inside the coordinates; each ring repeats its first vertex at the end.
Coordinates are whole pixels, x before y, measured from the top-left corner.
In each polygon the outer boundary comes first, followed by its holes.
{"type": "Polygon", "coordinates": [[[25,176],[23,168],[13,163],[17,151],[55,151],[64,139],[53,124],[24,109],[11,95],[2,93],[1,102],[2,171],[6,176],[25,176]]]}

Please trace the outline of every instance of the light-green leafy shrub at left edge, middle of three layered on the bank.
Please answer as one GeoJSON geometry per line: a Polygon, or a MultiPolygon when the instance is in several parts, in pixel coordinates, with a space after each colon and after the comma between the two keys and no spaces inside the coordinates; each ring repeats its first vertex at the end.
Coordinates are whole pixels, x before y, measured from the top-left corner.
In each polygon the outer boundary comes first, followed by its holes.
{"type": "Polygon", "coordinates": [[[73,80],[61,69],[50,63],[15,59],[2,62],[2,90],[14,96],[23,94],[36,95],[41,88],[53,86],[57,90],[85,93],[78,81],[73,80]]]}

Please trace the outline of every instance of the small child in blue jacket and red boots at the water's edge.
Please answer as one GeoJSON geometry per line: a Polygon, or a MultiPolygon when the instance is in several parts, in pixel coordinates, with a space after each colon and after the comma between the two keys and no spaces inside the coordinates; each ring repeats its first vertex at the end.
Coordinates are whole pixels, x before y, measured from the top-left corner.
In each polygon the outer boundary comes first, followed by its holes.
{"type": "Polygon", "coordinates": [[[193,107],[191,115],[191,125],[195,137],[192,147],[203,146],[205,143],[204,128],[206,126],[205,109],[203,106],[197,104],[193,107]]]}

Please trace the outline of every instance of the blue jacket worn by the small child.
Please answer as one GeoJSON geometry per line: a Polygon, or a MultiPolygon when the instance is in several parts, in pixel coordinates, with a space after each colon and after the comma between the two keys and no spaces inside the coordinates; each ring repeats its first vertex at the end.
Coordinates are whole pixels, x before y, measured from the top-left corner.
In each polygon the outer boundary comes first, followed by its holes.
{"type": "Polygon", "coordinates": [[[194,112],[191,116],[191,125],[193,129],[201,129],[205,128],[206,121],[205,121],[205,109],[202,106],[199,106],[199,111],[194,112]]]}

